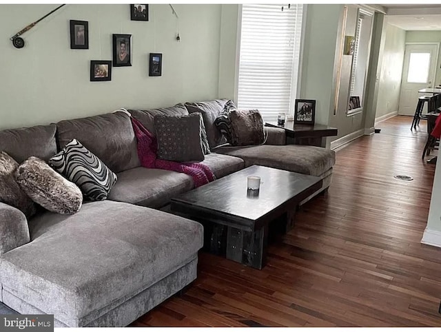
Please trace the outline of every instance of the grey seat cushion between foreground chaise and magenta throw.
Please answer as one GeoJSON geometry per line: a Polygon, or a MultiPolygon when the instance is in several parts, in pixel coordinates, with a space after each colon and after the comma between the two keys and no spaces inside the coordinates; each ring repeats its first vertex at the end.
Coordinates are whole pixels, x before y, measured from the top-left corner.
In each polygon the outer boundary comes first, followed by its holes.
{"type": "Polygon", "coordinates": [[[172,196],[193,187],[191,176],[165,169],[136,167],[116,175],[118,181],[108,199],[145,207],[163,207],[172,196]]]}

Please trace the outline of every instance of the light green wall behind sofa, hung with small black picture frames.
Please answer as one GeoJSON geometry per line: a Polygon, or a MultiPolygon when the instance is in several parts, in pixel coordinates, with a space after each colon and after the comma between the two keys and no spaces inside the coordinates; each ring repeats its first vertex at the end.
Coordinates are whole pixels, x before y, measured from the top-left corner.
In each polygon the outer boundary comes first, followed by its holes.
{"type": "Polygon", "coordinates": [[[55,5],[0,5],[0,129],[218,97],[220,5],[150,4],[150,21],[130,21],[129,5],[69,4],[9,38],[55,5]],[[70,50],[69,20],[89,21],[89,50],[70,50]],[[132,34],[132,67],[90,82],[90,60],[112,59],[112,34],[132,34]],[[148,54],[163,53],[163,76],[148,76],[148,54]]]}

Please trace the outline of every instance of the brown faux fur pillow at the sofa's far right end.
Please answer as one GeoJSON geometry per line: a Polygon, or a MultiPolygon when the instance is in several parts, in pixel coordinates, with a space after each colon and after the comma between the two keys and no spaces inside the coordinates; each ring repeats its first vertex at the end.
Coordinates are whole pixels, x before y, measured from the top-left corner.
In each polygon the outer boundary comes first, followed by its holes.
{"type": "Polygon", "coordinates": [[[263,119],[258,110],[231,110],[231,145],[258,145],[265,142],[263,119]]]}

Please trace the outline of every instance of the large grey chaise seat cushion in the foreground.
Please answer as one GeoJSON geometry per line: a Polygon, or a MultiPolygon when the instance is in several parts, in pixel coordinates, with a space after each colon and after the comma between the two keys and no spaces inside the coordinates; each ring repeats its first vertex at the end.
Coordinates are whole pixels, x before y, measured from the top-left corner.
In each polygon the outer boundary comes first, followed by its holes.
{"type": "Polygon", "coordinates": [[[30,234],[30,243],[1,256],[0,282],[61,322],[133,297],[203,245],[198,222],[108,200],[85,203],[73,216],[36,216],[30,234]]]}

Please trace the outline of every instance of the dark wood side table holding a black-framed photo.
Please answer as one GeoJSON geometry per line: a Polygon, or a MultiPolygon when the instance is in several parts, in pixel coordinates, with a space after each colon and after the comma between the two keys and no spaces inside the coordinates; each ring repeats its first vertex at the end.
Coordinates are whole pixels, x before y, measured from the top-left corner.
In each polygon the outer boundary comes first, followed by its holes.
{"type": "Polygon", "coordinates": [[[287,144],[314,145],[326,147],[325,137],[336,136],[338,129],[327,125],[295,125],[294,121],[285,121],[285,125],[278,125],[277,121],[265,122],[268,127],[285,129],[287,144]]]}

